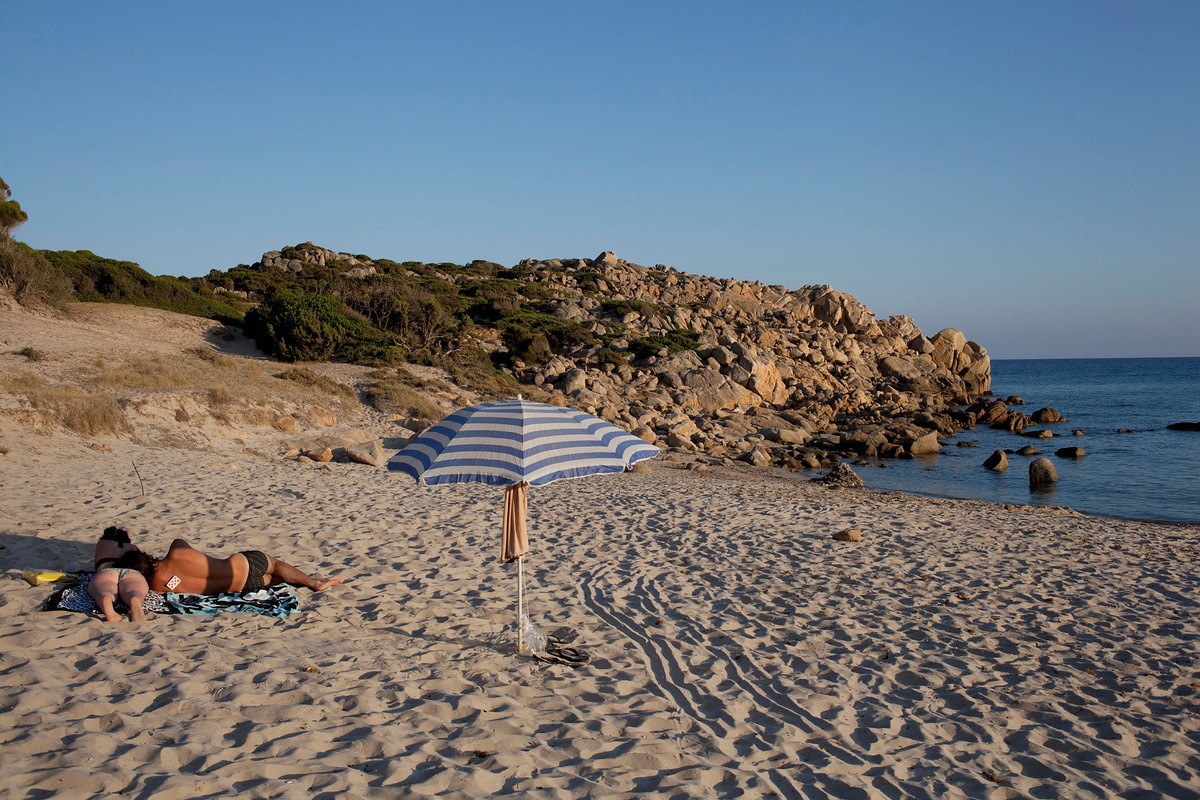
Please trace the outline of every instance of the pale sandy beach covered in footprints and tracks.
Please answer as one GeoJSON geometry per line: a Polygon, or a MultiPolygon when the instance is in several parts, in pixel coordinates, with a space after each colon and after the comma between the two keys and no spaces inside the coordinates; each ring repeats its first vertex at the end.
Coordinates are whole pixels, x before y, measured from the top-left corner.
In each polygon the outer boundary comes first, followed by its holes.
{"type": "MultiPolygon", "coordinates": [[[[0,368],[66,380],[106,313],[0,309],[0,368]]],[[[221,347],[110,313],[107,359],[221,347]]],[[[668,453],[529,493],[529,613],[587,651],[572,668],[515,655],[494,487],[284,458],[270,426],[86,437],[4,410],[2,798],[1200,796],[1194,525],[668,453]],[[22,570],[89,569],[113,524],[346,583],[283,619],[38,610],[22,570]]],[[[379,415],[337,425],[395,443],[379,415]]]]}

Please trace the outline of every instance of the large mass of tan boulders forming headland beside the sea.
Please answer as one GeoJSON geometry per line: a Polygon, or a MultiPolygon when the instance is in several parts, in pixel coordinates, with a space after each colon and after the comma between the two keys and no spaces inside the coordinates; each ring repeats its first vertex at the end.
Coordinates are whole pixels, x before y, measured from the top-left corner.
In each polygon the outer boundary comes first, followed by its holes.
{"type": "Polygon", "coordinates": [[[517,361],[514,375],[679,451],[793,469],[934,453],[938,437],[974,425],[976,413],[952,407],[990,390],[986,350],[960,331],[926,337],[912,319],[875,319],[827,285],[790,291],[611,252],[522,265],[522,281],[556,290],[557,317],[606,343],[517,361]],[[696,348],[631,350],[673,332],[696,348]]]}

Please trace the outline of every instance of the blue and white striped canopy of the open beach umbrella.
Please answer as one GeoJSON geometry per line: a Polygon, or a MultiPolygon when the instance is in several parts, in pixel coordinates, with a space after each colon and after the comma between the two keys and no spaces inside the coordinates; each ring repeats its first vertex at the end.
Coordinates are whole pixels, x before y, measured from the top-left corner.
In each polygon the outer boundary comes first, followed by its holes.
{"type": "Polygon", "coordinates": [[[500,401],[458,409],[388,462],[426,485],[526,482],[620,473],[659,449],[571,408],[500,401]]]}

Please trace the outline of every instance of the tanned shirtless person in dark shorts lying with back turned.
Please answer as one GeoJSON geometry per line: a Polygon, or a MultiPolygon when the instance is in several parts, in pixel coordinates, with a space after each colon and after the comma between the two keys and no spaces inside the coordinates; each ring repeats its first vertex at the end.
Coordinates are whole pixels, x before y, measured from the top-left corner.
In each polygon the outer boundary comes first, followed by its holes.
{"type": "Polygon", "coordinates": [[[257,591],[264,587],[287,583],[322,591],[342,583],[342,576],[311,578],[290,564],[271,558],[262,551],[234,553],[229,558],[212,558],[176,539],[167,558],[155,564],[150,588],[155,591],[178,591],[191,595],[218,595],[224,591],[257,591]]]}

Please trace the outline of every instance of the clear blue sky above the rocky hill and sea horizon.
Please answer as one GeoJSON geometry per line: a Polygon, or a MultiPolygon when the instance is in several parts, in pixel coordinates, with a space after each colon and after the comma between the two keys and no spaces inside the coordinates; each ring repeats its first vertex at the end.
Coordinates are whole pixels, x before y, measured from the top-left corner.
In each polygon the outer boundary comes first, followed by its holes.
{"type": "Polygon", "coordinates": [[[1196,2],[37,2],[17,237],[826,283],[994,357],[1200,355],[1196,2]]]}

